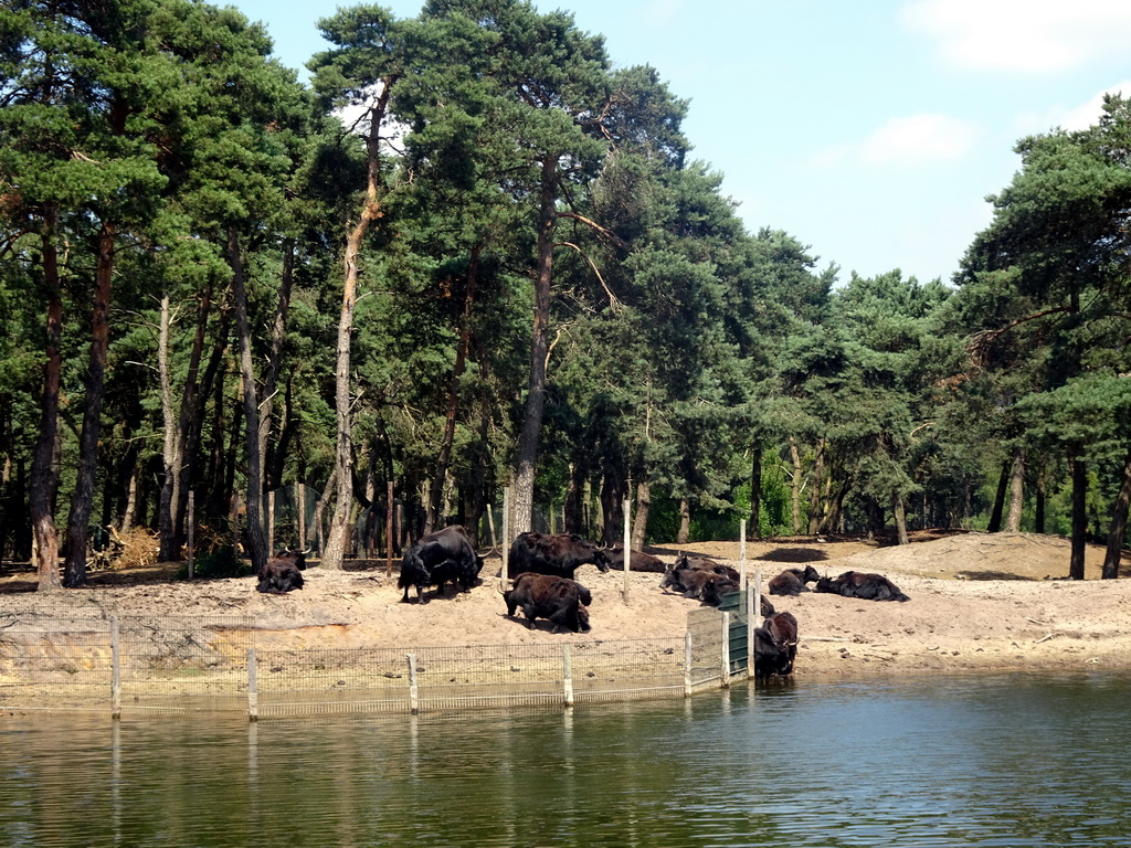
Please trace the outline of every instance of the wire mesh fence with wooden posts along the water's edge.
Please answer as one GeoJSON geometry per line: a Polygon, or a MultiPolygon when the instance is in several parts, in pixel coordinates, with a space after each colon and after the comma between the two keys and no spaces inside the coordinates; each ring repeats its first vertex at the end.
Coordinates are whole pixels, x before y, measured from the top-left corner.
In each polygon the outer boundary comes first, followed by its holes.
{"type": "Polygon", "coordinates": [[[310,647],[317,628],[247,616],[0,614],[0,710],[258,719],[684,696],[752,672],[733,650],[746,626],[736,612],[701,608],[664,639],[374,649],[310,647]]]}

